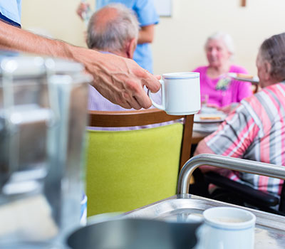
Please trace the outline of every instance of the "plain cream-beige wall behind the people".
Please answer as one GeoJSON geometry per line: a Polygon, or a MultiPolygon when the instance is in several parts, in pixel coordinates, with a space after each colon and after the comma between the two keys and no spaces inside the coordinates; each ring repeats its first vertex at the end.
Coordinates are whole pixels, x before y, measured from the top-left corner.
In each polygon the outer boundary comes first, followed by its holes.
{"type": "MultiPolygon", "coordinates": [[[[85,46],[84,25],[76,16],[79,0],[24,0],[24,28],[43,28],[54,38],[85,46]]],[[[88,0],[93,6],[93,0],[88,0]]],[[[260,43],[284,32],[284,0],[172,0],[173,15],[160,18],[152,44],[155,73],[192,70],[204,65],[204,41],[215,31],[232,35],[234,63],[256,74],[255,58],[260,43]]]]}

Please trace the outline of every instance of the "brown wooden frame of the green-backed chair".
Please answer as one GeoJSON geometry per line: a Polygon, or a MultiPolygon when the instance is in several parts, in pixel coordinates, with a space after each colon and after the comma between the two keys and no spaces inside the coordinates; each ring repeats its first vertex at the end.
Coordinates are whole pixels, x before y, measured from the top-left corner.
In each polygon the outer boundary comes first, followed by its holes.
{"type": "Polygon", "coordinates": [[[88,116],[90,127],[132,127],[169,122],[183,118],[180,169],[190,159],[194,115],[167,115],[166,112],[153,108],[122,112],[89,111],[88,116]]]}

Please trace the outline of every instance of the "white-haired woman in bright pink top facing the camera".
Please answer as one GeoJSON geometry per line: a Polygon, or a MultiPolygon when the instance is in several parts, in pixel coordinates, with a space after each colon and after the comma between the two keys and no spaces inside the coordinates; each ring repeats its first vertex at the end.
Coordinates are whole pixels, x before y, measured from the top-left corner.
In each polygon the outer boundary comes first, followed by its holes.
{"type": "Polygon", "coordinates": [[[252,95],[252,84],[229,78],[227,73],[247,73],[233,65],[234,45],[226,33],[214,33],[204,46],[209,65],[196,68],[200,73],[201,95],[207,95],[208,105],[226,107],[252,95]]]}

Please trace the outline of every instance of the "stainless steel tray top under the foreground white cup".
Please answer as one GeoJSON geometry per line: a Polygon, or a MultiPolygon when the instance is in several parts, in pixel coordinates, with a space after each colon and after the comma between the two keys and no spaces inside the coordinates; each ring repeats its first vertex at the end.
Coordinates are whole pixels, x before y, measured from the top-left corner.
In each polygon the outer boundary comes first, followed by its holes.
{"type": "MultiPolygon", "coordinates": [[[[199,196],[183,194],[157,201],[148,206],[125,213],[125,218],[152,218],[166,221],[196,221],[202,212],[215,206],[235,206],[199,196]]],[[[238,208],[244,208],[235,206],[238,208]]],[[[285,245],[285,217],[244,208],[257,216],[254,248],[281,249],[285,245]]]]}

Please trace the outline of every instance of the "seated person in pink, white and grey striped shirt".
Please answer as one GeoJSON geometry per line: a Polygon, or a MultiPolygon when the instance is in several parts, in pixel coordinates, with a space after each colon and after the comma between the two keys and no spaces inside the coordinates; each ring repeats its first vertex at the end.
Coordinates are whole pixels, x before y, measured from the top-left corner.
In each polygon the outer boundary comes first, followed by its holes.
{"type": "MultiPolygon", "coordinates": [[[[261,91],[241,101],[217,132],[199,142],[195,155],[220,154],[285,165],[285,33],[266,39],[259,48],[257,70],[261,91]]],[[[229,179],[281,194],[283,180],[267,176],[201,166],[229,179]]]]}

